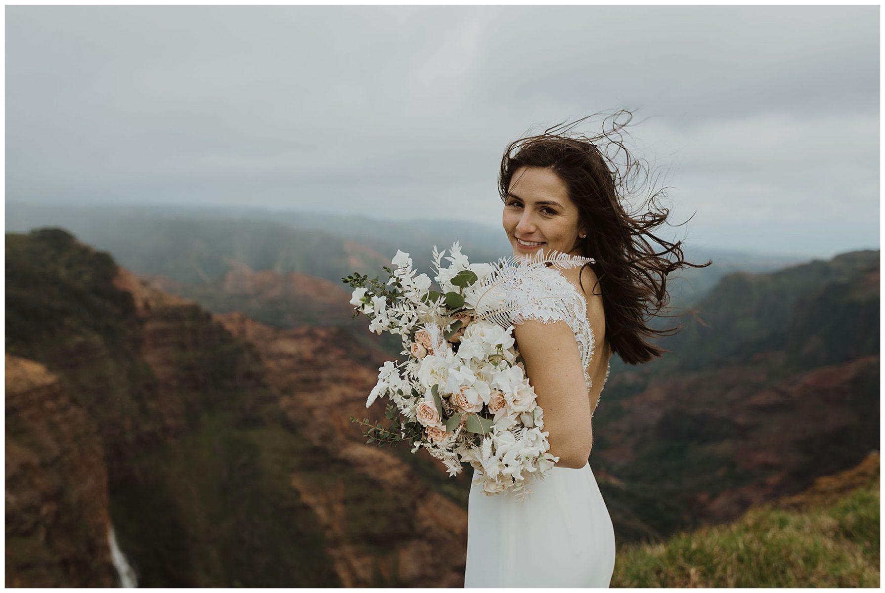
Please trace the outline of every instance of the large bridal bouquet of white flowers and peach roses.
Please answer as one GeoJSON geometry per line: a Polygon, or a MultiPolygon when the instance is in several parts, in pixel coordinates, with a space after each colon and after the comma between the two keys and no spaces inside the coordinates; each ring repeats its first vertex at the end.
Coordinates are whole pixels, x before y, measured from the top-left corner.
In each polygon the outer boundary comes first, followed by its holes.
{"type": "MultiPolygon", "coordinates": [[[[501,258],[496,265],[471,264],[454,243],[450,256],[434,247],[435,281],[415,275],[412,258],[397,250],[395,269],[384,266],[383,283],[354,273],[342,279],[353,287],[354,317],[363,313],[369,330],[402,336],[402,364],[379,368],[366,408],[388,397],[389,427],[350,418],[366,427],[367,443],[413,444],[443,461],[450,476],[461,463],[473,466],[473,481],[491,496],[504,490],[520,498],[527,485],[558,461],[543,432],[543,410],[535,401],[510,324],[514,308],[507,271],[524,263],[501,258]]],[[[564,254],[560,261],[570,262],[564,254]]],[[[527,260],[524,260],[527,261],[527,260]]],[[[537,266],[557,259],[538,258],[537,266]]],[[[571,265],[570,263],[566,263],[571,265]]],[[[525,269],[525,268],[523,268],[525,269]]]]}

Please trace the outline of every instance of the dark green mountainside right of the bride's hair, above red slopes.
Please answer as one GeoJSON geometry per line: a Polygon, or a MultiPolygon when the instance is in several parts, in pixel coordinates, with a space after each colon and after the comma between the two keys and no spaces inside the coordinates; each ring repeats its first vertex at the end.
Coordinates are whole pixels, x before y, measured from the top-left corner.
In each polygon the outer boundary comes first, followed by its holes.
{"type": "Polygon", "coordinates": [[[654,320],[683,327],[659,341],[677,356],[650,367],[701,371],[783,350],[785,366],[800,370],[877,353],[879,258],[878,250],[850,251],[776,272],[730,273],[682,319],[654,320]]]}

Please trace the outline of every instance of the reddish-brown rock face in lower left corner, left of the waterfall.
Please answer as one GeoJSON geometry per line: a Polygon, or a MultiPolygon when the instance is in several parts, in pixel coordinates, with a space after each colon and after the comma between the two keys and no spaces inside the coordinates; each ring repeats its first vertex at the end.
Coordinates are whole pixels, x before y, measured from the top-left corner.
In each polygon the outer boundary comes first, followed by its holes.
{"type": "Polygon", "coordinates": [[[95,422],[45,366],[6,354],[6,586],[116,587],[95,422]]]}

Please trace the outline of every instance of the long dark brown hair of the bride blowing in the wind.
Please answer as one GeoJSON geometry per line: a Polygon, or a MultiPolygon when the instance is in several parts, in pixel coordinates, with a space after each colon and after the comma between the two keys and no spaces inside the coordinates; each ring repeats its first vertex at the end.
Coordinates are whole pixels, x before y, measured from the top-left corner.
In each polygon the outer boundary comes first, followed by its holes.
{"type": "Polygon", "coordinates": [[[670,299],[666,290],[667,274],[684,266],[710,266],[712,260],[705,264],[684,261],[681,241],[669,243],[651,233],[666,222],[670,213],[669,209],[655,204],[658,197],[666,197],[666,187],[650,192],[635,212],[627,211],[625,203],[638,193],[634,183],[639,173],[645,173],[645,181],[650,173],[647,161],[632,158],[621,142],[621,131],[633,119],[633,114],[627,110],[615,112],[611,116],[612,129],[606,132],[603,125],[600,135],[588,137],[572,132],[592,117],[559,124],[541,135],[511,142],[501,160],[498,191],[506,203],[513,174],[524,166],[548,168],[566,183],[569,197],[578,206],[581,222],[588,231],[585,239],[579,239],[577,253],[596,260],[584,266],[590,266],[596,273],[594,294],[598,294],[597,284],[602,289],[606,339],[613,353],[627,364],[637,365],[669,351],[647,342],[646,337],[673,335],[681,329],[681,326],[654,329],[646,319],[673,317],[659,314],[670,299]],[[628,117],[619,123],[622,114],[628,117]],[[610,155],[612,147],[616,150],[610,155]],[[619,166],[617,157],[621,151],[625,158],[619,166]],[[646,204],[650,205],[648,212],[644,212],[646,204]],[[663,250],[654,250],[649,239],[663,250]],[[667,255],[673,255],[673,261],[666,258],[667,255]]]}

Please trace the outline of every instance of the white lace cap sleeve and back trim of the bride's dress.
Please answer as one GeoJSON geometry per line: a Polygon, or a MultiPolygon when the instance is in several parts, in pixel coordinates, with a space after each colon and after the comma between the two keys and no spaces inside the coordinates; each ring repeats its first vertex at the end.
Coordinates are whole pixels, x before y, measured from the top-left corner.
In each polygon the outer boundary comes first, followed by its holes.
{"type": "MultiPolygon", "coordinates": [[[[583,265],[588,260],[593,261],[589,258],[566,260],[566,266],[583,265]]],[[[563,260],[560,258],[557,263],[561,265],[563,260]]],[[[566,321],[568,327],[572,329],[574,340],[578,344],[578,352],[581,354],[584,382],[588,391],[592,389],[593,381],[590,379],[588,367],[593,358],[596,340],[587,320],[587,298],[571,281],[559,273],[556,267],[527,266],[512,270],[509,283],[511,288],[509,294],[496,298],[496,307],[478,305],[477,316],[494,320],[505,328],[519,325],[528,319],[545,324],[566,321]]],[[[606,370],[605,381],[608,380],[609,370],[611,366],[606,370]]],[[[597,403],[596,407],[598,405],[597,403]]]]}

